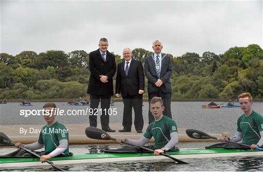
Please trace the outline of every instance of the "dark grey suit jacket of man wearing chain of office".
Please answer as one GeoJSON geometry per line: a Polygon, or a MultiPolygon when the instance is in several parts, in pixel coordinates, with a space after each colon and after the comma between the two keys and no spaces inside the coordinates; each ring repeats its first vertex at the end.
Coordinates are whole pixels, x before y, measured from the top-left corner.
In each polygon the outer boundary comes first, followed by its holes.
{"type": "MultiPolygon", "coordinates": [[[[172,69],[173,67],[172,67],[171,58],[168,55],[162,54],[160,79],[163,81],[163,85],[161,86],[161,89],[164,93],[170,93],[172,90],[171,82],[170,82],[172,69]]],[[[148,78],[148,93],[157,92],[159,87],[155,86],[155,83],[157,82],[158,77],[156,74],[153,54],[145,58],[144,71],[146,77],[148,78]]]]}

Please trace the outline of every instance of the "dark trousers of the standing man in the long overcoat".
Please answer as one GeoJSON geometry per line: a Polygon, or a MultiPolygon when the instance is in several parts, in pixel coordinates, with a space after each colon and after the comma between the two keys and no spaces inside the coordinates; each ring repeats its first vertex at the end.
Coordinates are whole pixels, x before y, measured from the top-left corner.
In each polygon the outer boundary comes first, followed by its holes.
{"type": "Polygon", "coordinates": [[[90,126],[97,127],[97,115],[98,115],[98,112],[101,112],[101,115],[100,115],[101,128],[102,129],[109,128],[110,118],[109,118],[108,110],[110,108],[111,96],[91,94],[90,99],[91,99],[90,108],[93,109],[93,111],[90,110],[90,115],[89,115],[90,126]],[[98,108],[98,104],[100,100],[101,100],[100,102],[101,110],[98,108]]]}

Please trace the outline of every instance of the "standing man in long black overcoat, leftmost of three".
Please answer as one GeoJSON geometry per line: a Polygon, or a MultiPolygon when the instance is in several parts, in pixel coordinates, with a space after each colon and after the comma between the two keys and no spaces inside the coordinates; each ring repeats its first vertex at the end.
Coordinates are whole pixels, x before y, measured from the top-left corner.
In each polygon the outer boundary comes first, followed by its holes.
{"type": "Polygon", "coordinates": [[[109,126],[109,113],[111,96],[113,96],[113,76],[116,72],[115,56],[108,52],[108,40],[99,40],[99,49],[90,52],[90,80],[87,93],[90,94],[91,106],[89,120],[91,127],[97,127],[97,114],[99,101],[101,100],[101,128],[106,132],[115,132],[109,126]]]}

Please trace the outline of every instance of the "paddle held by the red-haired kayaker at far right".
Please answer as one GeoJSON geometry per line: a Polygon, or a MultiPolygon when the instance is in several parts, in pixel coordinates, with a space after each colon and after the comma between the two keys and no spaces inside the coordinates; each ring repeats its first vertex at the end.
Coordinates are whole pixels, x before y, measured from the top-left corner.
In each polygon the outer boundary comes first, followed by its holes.
{"type": "MultiPolygon", "coordinates": [[[[196,139],[213,138],[213,139],[218,140],[218,138],[213,137],[213,136],[210,136],[210,135],[208,135],[207,133],[202,132],[202,131],[199,131],[199,130],[187,129],[187,130],[186,130],[186,133],[187,133],[187,135],[188,135],[190,138],[196,138],[196,139]]],[[[225,140],[225,141],[226,141],[226,142],[229,142],[229,143],[236,143],[236,144],[239,144],[239,145],[242,145],[242,146],[245,146],[245,147],[250,148],[249,145],[246,145],[246,144],[243,144],[243,143],[238,143],[238,142],[231,141],[231,140],[225,140]]],[[[263,151],[262,148],[255,148],[255,149],[263,151]]]]}

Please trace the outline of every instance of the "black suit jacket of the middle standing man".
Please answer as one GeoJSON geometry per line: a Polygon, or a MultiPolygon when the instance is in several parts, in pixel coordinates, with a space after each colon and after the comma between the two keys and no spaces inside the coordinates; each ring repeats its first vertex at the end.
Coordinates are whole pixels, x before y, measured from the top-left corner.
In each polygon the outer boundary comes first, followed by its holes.
{"type": "MultiPolygon", "coordinates": [[[[138,60],[131,59],[131,64],[126,76],[124,70],[125,60],[118,64],[115,94],[120,94],[122,97],[128,95],[139,95],[139,89],[144,90],[144,73],[142,63],[138,60]]],[[[126,64],[125,64],[126,66],[126,64]]]]}

